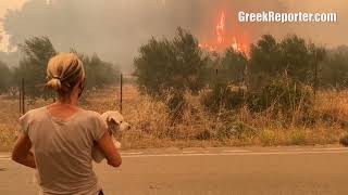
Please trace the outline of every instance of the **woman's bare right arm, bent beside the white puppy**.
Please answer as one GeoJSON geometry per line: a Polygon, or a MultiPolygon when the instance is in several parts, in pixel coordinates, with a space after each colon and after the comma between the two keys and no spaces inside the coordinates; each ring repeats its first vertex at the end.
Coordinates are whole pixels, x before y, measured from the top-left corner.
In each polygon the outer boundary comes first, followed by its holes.
{"type": "Polygon", "coordinates": [[[105,132],[98,141],[100,151],[104,154],[108,164],[113,167],[120,167],[122,164],[121,155],[111,140],[110,133],[105,132]]]}

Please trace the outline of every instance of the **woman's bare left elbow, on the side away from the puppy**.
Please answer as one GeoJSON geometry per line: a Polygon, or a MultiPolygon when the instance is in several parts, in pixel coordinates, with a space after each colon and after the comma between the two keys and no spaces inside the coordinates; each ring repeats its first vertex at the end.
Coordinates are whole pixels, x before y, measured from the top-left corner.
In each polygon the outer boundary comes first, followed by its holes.
{"type": "Polygon", "coordinates": [[[30,152],[32,142],[27,135],[21,134],[12,152],[12,160],[36,169],[34,154],[30,152]]]}

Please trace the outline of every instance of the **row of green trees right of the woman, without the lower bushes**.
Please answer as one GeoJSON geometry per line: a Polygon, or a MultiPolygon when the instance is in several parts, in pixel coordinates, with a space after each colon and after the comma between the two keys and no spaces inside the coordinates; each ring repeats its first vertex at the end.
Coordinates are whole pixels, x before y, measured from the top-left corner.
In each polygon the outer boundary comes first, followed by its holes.
{"type": "Polygon", "coordinates": [[[257,89],[285,72],[312,87],[348,87],[348,47],[326,49],[296,35],[282,40],[264,35],[247,56],[232,48],[206,51],[194,35],[178,28],[173,39],[151,38],[141,46],[134,65],[140,90],[154,96],[171,89],[197,92],[216,79],[257,89]]]}

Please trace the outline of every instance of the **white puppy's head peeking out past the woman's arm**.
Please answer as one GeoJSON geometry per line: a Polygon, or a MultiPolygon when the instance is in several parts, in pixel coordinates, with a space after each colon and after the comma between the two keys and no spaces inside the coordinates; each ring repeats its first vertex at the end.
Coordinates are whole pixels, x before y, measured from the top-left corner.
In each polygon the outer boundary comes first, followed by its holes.
{"type": "Polygon", "coordinates": [[[101,115],[108,123],[108,128],[113,132],[122,132],[130,129],[128,122],[124,121],[123,116],[119,112],[107,112],[101,115]]]}

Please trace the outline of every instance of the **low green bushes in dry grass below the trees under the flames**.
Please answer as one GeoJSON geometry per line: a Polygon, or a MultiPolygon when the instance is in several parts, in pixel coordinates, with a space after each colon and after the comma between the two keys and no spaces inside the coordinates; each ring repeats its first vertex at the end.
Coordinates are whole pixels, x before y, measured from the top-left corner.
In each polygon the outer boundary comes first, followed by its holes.
{"type": "Polygon", "coordinates": [[[261,90],[233,90],[219,82],[201,98],[201,104],[210,112],[232,110],[246,106],[252,113],[266,112],[271,117],[279,115],[286,122],[308,121],[313,110],[312,89],[286,76],[274,78],[261,90]]]}

